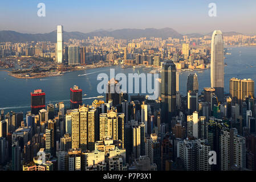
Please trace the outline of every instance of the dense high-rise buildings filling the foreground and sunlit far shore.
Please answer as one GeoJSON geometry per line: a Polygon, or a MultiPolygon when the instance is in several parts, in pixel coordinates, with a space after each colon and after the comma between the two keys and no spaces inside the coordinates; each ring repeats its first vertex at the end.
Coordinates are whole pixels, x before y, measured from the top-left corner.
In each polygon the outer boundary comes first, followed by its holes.
{"type": "MultiPolygon", "coordinates": [[[[56,61],[63,63],[63,28],[58,27],[56,61]]],[[[114,39],[104,38],[106,44],[114,39]],[[108,40],[109,39],[109,40],[108,40]]],[[[100,38],[88,41],[99,43],[100,38]]],[[[161,39],[128,43],[125,60],[137,48],[159,46],[161,39]]],[[[138,40],[138,41],[139,41],[138,40]]],[[[185,42],[188,38],[184,38],[185,42]]],[[[166,40],[167,41],[167,40],[166,40]]],[[[169,39],[170,43],[179,40],[169,39]]],[[[79,42],[80,43],[80,42],[79,42]]],[[[125,43],[125,41],[123,42],[125,43]]],[[[121,47],[119,42],[116,46],[121,47]]],[[[166,44],[165,44],[166,45],[166,44]]],[[[103,46],[103,44],[102,44],[103,46]]],[[[103,46],[104,47],[104,46],[103,46]]],[[[209,49],[208,49],[209,50],[209,49]]],[[[68,63],[82,63],[86,48],[68,47],[68,63]],[[80,52],[79,52],[80,51],[80,52]],[[78,59],[78,57],[80,57],[78,59]]],[[[187,170],[227,171],[256,169],[256,103],[254,81],[230,78],[230,93],[224,94],[224,38],[214,31],[211,47],[211,83],[200,93],[196,74],[190,74],[187,94],[178,89],[177,69],[180,56],[164,59],[166,50],[157,57],[134,55],[135,63],[161,65],[160,96],[106,93],[106,100],[96,99],[83,105],[82,89],[70,88],[70,105],[59,102],[46,105],[47,93],[31,92],[31,111],[1,111],[0,164],[5,170],[23,171],[122,171],[187,170]],[[142,57],[145,56],[142,59],[142,57]],[[155,59],[156,58],[156,59],[155,59]],[[164,59],[164,61],[162,61],[164,59]],[[145,63],[147,62],[147,63],[145,63]],[[209,162],[210,152],[214,163],[209,162]]],[[[156,51],[156,52],[159,52],[156,51]]],[[[196,66],[189,44],[182,45],[184,64],[196,66]]],[[[155,51],[148,50],[148,53],[155,51]]],[[[205,50],[205,56],[207,55],[205,50]]],[[[108,55],[111,59],[117,56],[108,55]]],[[[169,57],[169,56],[167,56],[169,57]]],[[[113,59],[115,61],[115,59],[113,59]]],[[[200,61],[198,61],[200,62],[200,61]]],[[[84,62],[83,62],[84,63],[84,62]]],[[[133,63],[133,62],[131,62],[133,63]]],[[[198,63],[199,64],[199,63],[198,63]]],[[[202,63],[204,64],[204,63],[202,63]]],[[[120,86],[109,80],[107,88],[120,86]]],[[[68,92],[68,90],[67,90],[68,92]]]]}

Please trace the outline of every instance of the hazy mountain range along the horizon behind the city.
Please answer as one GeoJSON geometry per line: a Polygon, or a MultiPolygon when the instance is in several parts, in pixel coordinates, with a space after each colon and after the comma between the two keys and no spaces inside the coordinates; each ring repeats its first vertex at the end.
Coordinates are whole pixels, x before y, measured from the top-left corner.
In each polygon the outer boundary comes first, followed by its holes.
{"type": "MultiPolygon", "coordinates": [[[[237,35],[237,32],[224,32],[224,35],[237,35]]],[[[203,34],[186,34],[189,38],[198,38],[204,36],[203,34]]],[[[212,35],[212,32],[206,35],[212,35]]],[[[182,34],[173,30],[172,28],[145,28],[145,29],[135,29],[135,28],[125,28],[121,30],[96,30],[89,33],[82,32],[63,32],[64,42],[68,39],[87,39],[88,37],[93,38],[94,36],[111,36],[115,39],[136,39],[141,37],[155,37],[167,39],[172,38],[182,38],[182,34]]],[[[57,35],[56,31],[52,31],[46,34],[23,34],[15,31],[0,31],[0,42],[31,42],[31,41],[50,41],[56,42],[57,35]]]]}

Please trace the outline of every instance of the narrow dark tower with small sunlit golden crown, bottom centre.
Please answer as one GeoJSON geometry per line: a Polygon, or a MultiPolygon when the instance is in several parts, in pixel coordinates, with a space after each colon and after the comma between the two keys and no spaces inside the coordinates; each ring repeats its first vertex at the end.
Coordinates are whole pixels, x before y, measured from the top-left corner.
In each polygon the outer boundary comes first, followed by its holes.
{"type": "Polygon", "coordinates": [[[157,140],[155,133],[151,134],[151,137],[146,137],[146,156],[151,160],[151,164],[155,163],[157,169],[160,170],[160,142],[157,140]]]}

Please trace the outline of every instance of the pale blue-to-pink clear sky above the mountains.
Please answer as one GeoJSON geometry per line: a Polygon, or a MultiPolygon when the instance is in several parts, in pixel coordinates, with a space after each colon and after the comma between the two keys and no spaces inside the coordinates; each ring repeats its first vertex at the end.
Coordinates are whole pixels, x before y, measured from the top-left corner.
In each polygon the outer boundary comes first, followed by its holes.
{"type": "Polygon", "coordinates": [[[213,30],[256,35],[255,0],[1,0],[0,30],[47,33],[64,31],[170,27],[181,34],[213,30]],[[38,3],[46,16],[38,16],[38,3]],[[216,3],[210,17],[209,3],[216,3]]]}

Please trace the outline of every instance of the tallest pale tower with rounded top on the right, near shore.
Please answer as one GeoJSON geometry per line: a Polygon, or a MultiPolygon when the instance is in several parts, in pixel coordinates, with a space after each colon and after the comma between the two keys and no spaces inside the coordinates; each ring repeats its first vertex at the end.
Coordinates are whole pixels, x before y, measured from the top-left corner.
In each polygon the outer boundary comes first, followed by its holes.
{"type": "Polygon", "coordinates": [[[224,40],[220,30],[213,32],[210,64],[211,87],[215,89],[218,100],[222,101],[224,98],[224,40]]]}

